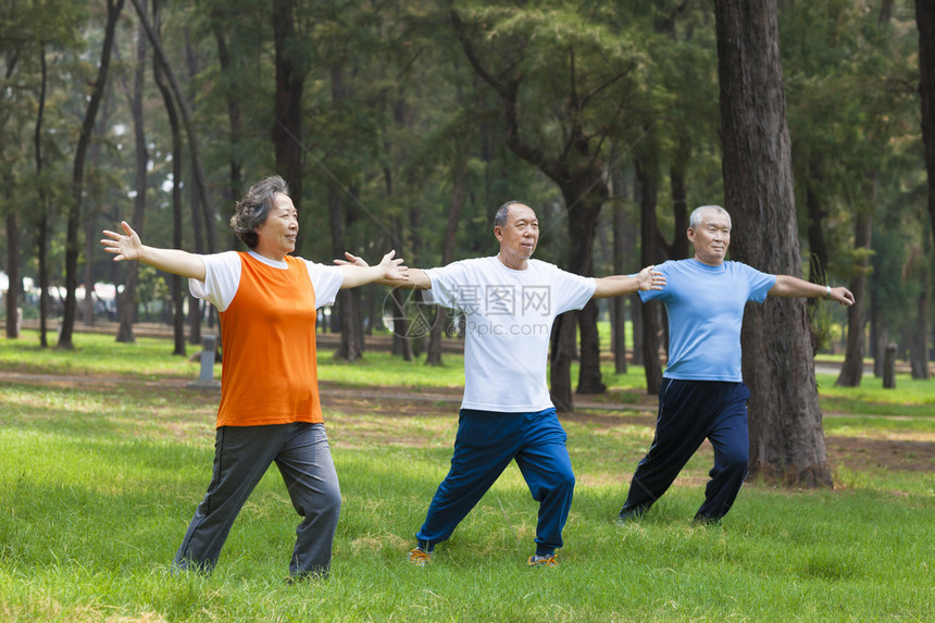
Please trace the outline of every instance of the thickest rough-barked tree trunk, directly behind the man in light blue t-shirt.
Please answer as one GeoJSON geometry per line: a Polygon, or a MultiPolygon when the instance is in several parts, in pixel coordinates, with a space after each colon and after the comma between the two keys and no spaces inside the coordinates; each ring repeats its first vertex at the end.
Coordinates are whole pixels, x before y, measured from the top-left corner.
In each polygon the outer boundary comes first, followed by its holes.
{"type": "MultiPolygon", "coordinates": [[[[733,257],[801,274],[775,0],[715,0],[724,200],[733,257]]],[[[812,345],[800,299],[750,303],[744,320],[750,471],[832,486],[812,345]]]]}

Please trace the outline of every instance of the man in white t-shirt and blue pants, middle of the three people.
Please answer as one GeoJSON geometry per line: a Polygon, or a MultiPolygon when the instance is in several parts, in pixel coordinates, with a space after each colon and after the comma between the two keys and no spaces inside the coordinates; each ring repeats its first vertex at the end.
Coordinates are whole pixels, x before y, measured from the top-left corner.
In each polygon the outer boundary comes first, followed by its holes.
{"type": "Polygon", "coordinates": [[[451,536],[513,460],[539,502],[536,553],[528,563],[557,564],[575,477],[546,384],[552,321],[591,298],[659,289],[665,283],[652,266],[635,276],[593,278],[532,260],[539,222],[516,201],[497,211],[494,236],[500,242],[496,257],[410,269],[409,281],[399,284],[428,290],[427,302],[458,309],[465,321],[464,398],[454,453],[409,553],[414,564],[431,560],[435,545],[451,536]]]}

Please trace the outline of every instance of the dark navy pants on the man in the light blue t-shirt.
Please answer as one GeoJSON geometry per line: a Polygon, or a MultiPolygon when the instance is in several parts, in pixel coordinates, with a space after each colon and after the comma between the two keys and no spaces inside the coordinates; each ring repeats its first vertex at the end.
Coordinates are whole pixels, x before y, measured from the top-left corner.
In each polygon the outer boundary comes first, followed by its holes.
{"type": "Polygon", "coordinates": [[[747,477],[749,398],[743,383],[663,378],[656,437],[636,468],[621,516],[641,514],[662,497],[706,438],[714,447],[714,466],[695,519],[727,514],[747,477]]]}

